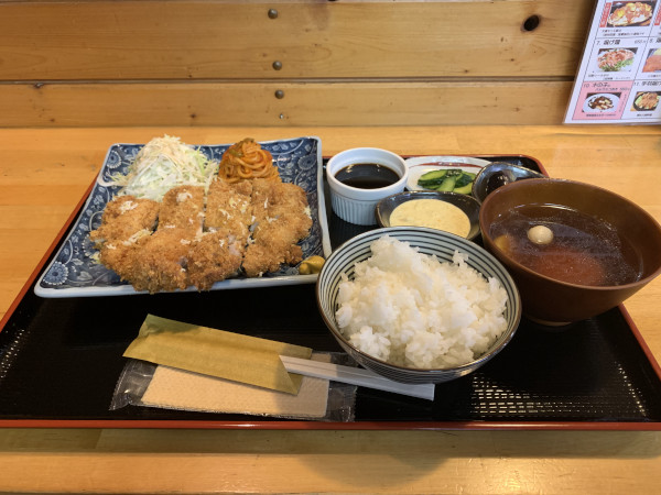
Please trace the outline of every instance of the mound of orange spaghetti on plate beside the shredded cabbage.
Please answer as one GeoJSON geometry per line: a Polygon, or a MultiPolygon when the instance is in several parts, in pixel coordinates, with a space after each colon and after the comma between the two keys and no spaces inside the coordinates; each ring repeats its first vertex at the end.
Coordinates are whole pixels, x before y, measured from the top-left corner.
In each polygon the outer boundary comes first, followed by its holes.
{"type": "Polygon", "coordinates": [[[254,178],[280,182],[273,156],[252,138],[246,138],[227,148],[220,158],[218,177],[230,184],[254,178]]]}

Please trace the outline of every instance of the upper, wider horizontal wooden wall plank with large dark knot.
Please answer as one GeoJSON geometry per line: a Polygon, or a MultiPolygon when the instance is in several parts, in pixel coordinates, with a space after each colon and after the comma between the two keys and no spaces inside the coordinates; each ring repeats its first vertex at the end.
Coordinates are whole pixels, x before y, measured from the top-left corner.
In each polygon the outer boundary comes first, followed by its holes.
{"type": "Polygon", "coordinates": [[[570,79],[593,8],[592,0],[2,2],[0,80],[570,79]],[[540,25],[528,32],[531,15],[540,25]]]}

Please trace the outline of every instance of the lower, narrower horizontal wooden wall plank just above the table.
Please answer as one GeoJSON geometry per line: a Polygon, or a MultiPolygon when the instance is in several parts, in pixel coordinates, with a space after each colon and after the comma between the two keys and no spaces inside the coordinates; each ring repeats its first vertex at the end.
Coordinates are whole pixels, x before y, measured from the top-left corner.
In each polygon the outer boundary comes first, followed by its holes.
{"type": "Polygon", "coordinates": [[[0,91],[0,127],[559,123],[571,88],[568,81],[15,84],[0,91]]]}

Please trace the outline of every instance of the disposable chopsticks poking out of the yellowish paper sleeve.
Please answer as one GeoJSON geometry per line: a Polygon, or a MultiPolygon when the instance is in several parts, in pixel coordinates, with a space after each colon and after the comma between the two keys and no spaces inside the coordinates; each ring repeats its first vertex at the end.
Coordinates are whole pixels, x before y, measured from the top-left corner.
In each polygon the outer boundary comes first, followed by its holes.
{"type": "Polygon", "coordinates": [[[434,384],[407,384],[393,382],[370,370],[362,367],[343,366],[340,364],[322,363],[318,361],[302,360],[281,355],[282,364],[290,373],[296,373],[315,378],[326,378],[334,382],[359,385],[378,391],[393,392],[395,394],[409,395],[427,400],[434,400],[434,384]]]}

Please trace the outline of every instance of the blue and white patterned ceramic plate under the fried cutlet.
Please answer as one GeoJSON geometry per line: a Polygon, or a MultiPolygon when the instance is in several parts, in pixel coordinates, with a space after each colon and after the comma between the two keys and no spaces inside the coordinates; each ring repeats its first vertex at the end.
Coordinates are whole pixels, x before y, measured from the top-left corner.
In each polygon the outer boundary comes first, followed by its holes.
{"type": "MultiPolygon", "coordinates": [[[[326,220],[323,187],[322,142],[306,136],[280,141],[260,142],[271,152],[283,182],[294,183],[307,193],[313,226],[310,235],[302,241],[303,257],[328,256],[330,241],[326,220]]],[[[220,161],[231,144],[198,146],[209,158],[220,161]]],[[[108,150],[91,194],[72,224],[57,254],[40,276],[34,293],[42,297],[85,297],[139,294],[119,276],[95,261],[96,250],[89,241],[89,232],[97,229],[106,205],[120,190],[112,185],[111,176],[126,174],[129,165],[143,144],[113,144],[108,150]]],[[[216,283],[212,290],[264,287],[314,283],[317,275],[299,275],[296,266],[258,278],[237,277],[216,283]]],[[[195,292],[188,287],[186,292],[195,292]]]]}

